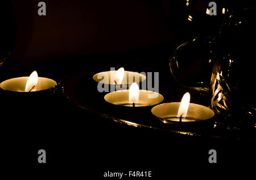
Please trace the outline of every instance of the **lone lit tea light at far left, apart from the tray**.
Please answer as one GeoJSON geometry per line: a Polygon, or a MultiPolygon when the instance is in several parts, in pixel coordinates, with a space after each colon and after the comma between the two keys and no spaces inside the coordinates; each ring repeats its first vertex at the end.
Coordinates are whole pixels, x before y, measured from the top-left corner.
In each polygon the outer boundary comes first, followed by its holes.
{"type": "Polygon", "coordinates": [[[34,71],[30,77],[7,79],[0,83],[0,88],[6,91],[32,92],[51,89],[56,85],[57,83],[53,79],[38,77],[38,73],[34,71]]]}

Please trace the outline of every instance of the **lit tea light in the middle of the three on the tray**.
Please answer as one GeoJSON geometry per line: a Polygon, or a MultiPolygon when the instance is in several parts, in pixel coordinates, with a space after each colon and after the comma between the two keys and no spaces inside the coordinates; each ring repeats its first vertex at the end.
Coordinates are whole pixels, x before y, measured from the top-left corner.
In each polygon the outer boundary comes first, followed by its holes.
{"type": "Polygon", "coordinates": [[[153,91],[140,90],[137,83],[132,83],[129,90],[108,93],[104,99],[106,102],[118,106],[144,107],[162,102],[163,96],[153,91]]]}

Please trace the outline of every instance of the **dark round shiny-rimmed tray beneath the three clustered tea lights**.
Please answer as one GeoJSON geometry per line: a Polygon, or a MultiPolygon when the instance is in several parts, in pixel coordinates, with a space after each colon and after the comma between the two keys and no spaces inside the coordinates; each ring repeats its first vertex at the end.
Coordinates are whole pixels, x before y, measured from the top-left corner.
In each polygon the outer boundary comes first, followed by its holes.
{"type": "MultiPolygon", "coordinates": [[[[71,76],[64,77],[60,85],[65,96],[77,106],[103,116],[106,119],[111,119],[114,122],[131,125],[134,127],[158,129],[160,131],[170,131],[184,136],[201,136],[214,139],[234,139],[255,140],[255,127],[246,127],[242,129],[240,124],[234,123],[234,120],[221,119],[214,116],[210,120],[195,123],[174,123],[166,124],[160,119],[151,114],[152,107],[138,108],[120,108],[112,106],[105,102],[104,95],[107,93],[99,93],[97,91],[97,83],[93,81],[93,75],[106,70],[94,69],[89,72],[76,72],[71,76]],[[245,130],[245,131],[244,131],[245,130]],[[246,132],[246,136],[245,133],[246,132]],[[248,133],[249,132],[249,133],[248,133]]],[[[144,72],[156,72],[156,68],[141,69],[144,72]]],[[[159,93],[163,95],[164,101],[179,102],[186,90],[177,86],[171,76],[159,71],[159,93]]],[[[207,106],[209,98],[200,93],[191,93],[192,103],[199,103],[207,106]]],[[[91,118],[90,120],[93,120],[91,118]]]]}

